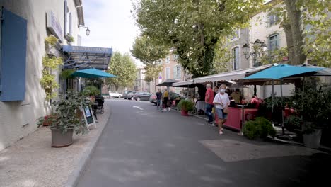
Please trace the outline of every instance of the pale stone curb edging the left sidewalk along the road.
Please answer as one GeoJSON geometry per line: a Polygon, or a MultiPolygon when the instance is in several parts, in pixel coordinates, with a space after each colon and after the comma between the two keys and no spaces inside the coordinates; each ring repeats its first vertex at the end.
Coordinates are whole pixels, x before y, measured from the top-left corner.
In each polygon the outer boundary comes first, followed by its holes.
{"type": "MultiPolygon", "coordinates": [[[[109,110],[110,110],[110,108],[109,108],[109,110]]],[[[77,162],[78,163],[77,168],[74,171],[72,171],[72,173],[68,177],[68,180],[66,180],[66,183],[64,183],[65,187],[77,186],[77,183],[79,182],[79,178],[80,178],[81,174],[83,174],[83,171],[86,168],[86,164],[91,159],[91,155],[94,152],[95,147],[100,140],[101,134],[103,133],[103,130],[105,129],[105,126],[107,125],[111,114],[112,114],[112,111],[110,111],[108,118],[105,121],[106,124],[103,125],[103,128],[100,130],[100,132],[98,132],[98,134],[95,137],[93,137],[90,144],[88,144],[88,148],[86,149],[85,152],[83,152],[83,156],[81,158],[79,158],[79,161],[77,162]]]]}

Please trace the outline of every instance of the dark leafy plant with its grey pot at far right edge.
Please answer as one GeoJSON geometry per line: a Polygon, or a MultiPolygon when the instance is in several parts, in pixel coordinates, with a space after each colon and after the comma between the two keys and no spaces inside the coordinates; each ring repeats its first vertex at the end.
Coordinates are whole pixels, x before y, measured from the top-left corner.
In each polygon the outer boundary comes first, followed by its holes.
{"type": "Polygon", "coordinates": [[[305,81],[303,89],[294,93],[293,104],[301,115],[303,123],[303,144],[306,147],[320,147],[322,129],[330,125],[331,87],[320,84],[317,79],[305,81]]]}

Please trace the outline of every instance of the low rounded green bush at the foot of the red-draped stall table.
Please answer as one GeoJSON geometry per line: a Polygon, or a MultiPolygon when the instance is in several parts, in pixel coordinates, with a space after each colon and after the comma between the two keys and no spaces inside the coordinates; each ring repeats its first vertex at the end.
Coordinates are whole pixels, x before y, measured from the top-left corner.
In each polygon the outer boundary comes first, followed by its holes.
{"type": "Polygon", "coordinates": [[[255,120],[245,122],[243,133],[249,139],[253,140],[257,137],[266,138],[267,135],[274,137],[276,130],[274,130],[269,120],[263,117],[257,117],[255,120]]]}

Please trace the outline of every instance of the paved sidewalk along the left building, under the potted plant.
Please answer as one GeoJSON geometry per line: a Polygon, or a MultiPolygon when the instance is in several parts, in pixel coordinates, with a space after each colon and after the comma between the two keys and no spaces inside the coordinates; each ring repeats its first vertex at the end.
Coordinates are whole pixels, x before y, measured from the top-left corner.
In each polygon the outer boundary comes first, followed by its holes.
{"type": "Polygon", "coordinates": [[[88,135],[74,135],[69,147],[52,148],[50,129],[42,127],[0,152],[1,187],[74,186],[110,118],[110,101],[98,113],[97,128],[88,135]]]}

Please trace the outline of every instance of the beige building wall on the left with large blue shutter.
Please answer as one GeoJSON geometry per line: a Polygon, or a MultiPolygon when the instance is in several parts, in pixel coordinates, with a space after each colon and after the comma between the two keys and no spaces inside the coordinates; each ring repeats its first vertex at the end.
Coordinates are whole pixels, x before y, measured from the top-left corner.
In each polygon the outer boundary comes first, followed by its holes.
{"type": "Polygon", "coordinates": [[[50,112],[40,86],[42,57],[50,52],[62,56],[61,45],[80,44],[79,25],[84,25],[84,18],[81,0],[1,0],[0,6],[1,150],[36,130],[35,120],[50,112]],[[45,38],[51,34],[59,39],[59,46],[45,51],[45,38]],[[67,34],[74,42],[68,41],[67,34]]]}

